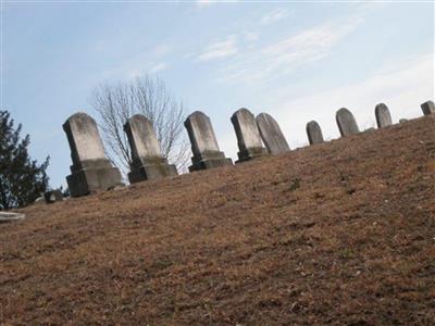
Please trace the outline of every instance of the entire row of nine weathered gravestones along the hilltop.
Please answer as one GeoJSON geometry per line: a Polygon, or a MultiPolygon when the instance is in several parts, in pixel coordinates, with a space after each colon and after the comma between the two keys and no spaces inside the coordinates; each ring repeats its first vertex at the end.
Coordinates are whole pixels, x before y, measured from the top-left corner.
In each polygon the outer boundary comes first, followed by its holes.
{"type": "MultiPolygon", "coordinates": [[[[424,114],[435,112],[432,101],[422,104],[424,114]]],[[[377,126],[391,125],[391,116],[385,104],[375,108],[377,126]]],[[[268,113],[257,117],[247,109],[236,111],[231,117],[238,145],[238,161],[245,162],[266,154],[289,151],[277,122],[268,113]],[[263,147],[265,145],[265,148],[263,147]]],[[[358,134],[357,122],[347,109],[336,113],[336,122],[341,137],[358,134]]],[[[191,165],[189,171],[207,170],[232,165],[220,150],[210,118],[202,112],[190,114],[185,121],[190,145],[191,165]]],[[[88,195],[96,190],[123,186],[121,173],[108,160],[98,131],[97,123],[86,113],[75,113],[63,124],[71,148],[71,175],[66,177],[72,197],[88,195]]],[[[140,114],[132,116],[124,125],[132,149],[128,180],[134,184],[177,175],[173,164],[162,155],[151,121],[140,114]]],[[[310,145],[323,142],[323,135],[315,121],[307,124],[310,145]]]]}

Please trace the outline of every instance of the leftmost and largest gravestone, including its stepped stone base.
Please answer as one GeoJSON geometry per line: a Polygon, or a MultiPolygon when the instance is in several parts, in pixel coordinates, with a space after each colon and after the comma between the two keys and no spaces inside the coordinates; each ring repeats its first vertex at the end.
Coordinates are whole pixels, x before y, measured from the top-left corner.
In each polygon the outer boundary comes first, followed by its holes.
{"type": "Polygon", "coordinates": [[[122,186],[121,174],[105,156],[97,123],[86,113],[75,113],[63,124],[70,143],[71,175],[66,177],[71,197],[122,186]]]}

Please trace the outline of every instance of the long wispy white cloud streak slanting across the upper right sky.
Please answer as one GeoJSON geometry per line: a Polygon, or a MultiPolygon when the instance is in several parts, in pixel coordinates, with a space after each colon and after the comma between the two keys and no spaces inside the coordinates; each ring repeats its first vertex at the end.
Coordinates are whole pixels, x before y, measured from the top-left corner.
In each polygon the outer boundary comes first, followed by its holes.
{"type": "Polygon", "coordinates": [[[331,49],[353,32],[362,18],[347,23],[326,23],[277,42],[250,51],[239,51],[239,55],[221,71],[223,83],[261,83],[272,76],[288,74],[301,66],[325,58],[331,49]]]}

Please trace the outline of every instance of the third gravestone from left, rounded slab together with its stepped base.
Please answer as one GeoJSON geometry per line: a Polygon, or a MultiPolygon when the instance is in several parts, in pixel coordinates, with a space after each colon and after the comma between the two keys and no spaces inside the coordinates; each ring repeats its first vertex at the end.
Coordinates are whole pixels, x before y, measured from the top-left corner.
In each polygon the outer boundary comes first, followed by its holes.
{"type": "Polygon", "coordinates": [[[189,135],[194,154],[191,156],[192,164],[189,166],[190,172],[233,165],[233,161],[225,158],[219,149],[210,117],[200,111],[196,111],[187,117],[184,125],[189,135]]]}

